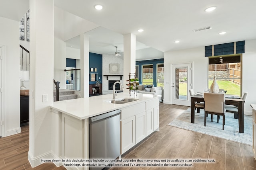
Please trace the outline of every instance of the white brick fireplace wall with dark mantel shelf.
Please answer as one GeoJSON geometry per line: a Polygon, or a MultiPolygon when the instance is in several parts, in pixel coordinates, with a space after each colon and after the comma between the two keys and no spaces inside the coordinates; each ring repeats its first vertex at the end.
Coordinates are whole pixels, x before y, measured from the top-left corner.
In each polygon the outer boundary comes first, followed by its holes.
{"type": "Polygon", "coordinates": [[[109,76],[107,80],[107,77],[103,76],[110,74],[109,64],[119,64],[119,73],[116,74],[124,74],[123,56],[115,56],[114,54],[102,55],[102,94],[111,94],[113,92],[112,90],[108,90],[108,80],[119,80],[121,84],[124,85],[124,88],[126,88],[124,77],[122,77],[122,80],[120,80],[120,76],[109,76]]]}

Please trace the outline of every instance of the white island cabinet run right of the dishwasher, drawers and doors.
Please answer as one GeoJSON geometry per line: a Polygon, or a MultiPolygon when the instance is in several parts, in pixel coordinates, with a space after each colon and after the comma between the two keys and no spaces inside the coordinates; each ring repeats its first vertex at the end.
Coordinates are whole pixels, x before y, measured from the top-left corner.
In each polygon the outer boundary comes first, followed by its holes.
{"type": "Polygon", "coordinates": [[[153,131],[159,130],[159,99],[121,109],[121,149],[122,154],[145,139],[153,131]]]}

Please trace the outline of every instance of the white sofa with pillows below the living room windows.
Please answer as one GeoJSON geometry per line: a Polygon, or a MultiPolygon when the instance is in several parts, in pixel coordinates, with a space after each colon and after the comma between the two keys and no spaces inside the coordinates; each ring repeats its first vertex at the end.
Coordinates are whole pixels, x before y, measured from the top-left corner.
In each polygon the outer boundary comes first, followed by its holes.
{"type": "Polygon", "coordinates": [[[161,95],[161,97],[159,97],[159,102],[164,100],[164,88],[162,86],[154,87],[153,84],[138,85],[138,93],[161,95]]]}

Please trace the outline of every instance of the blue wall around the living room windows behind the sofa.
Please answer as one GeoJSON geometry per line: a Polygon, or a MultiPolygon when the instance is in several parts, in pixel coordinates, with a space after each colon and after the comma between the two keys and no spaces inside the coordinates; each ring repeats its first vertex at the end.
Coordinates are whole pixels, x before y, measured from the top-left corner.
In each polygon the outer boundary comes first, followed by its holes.
{"type": "Polygon", "coordinates": [[[163,63],[164,63],[164,59],[136,61],[136,65],[139,66],[139,83],[142,84],[142,65],[153,64],[153,84],[154,86],[156,86],[157,85],[157,79],[156,79],[157,64],[163,64],[163,63]]]}

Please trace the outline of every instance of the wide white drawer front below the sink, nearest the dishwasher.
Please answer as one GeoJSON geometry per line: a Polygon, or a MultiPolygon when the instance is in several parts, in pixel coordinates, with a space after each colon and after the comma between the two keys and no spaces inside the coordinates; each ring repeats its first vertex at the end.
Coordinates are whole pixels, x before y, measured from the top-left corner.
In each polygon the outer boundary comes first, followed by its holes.
{"type": "Polygon", "coordinates": [[[121,119],[126,119],[128,117],[134,116],[138,113],[145,111],[146,109],[145,105],[146,105],[145,103],[141,103],[141,104],[137,104],[131,107],[121,109],[121,119]]]}

